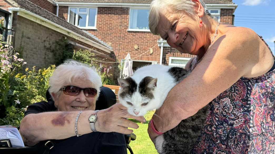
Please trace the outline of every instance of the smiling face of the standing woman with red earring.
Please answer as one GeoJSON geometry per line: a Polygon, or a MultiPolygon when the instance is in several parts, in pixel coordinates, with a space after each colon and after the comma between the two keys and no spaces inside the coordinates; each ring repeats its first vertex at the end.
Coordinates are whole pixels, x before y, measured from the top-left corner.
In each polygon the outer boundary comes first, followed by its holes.
{"type": "Polygon", "coordinates": [[[183,11],[167,8],[160,14],[157,30],[171,47],[182,53],[198,55],[204,42],[198,19],[198,16],[192,18],[183,11]]]}

